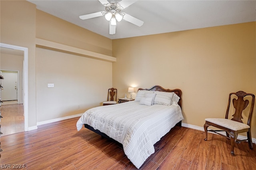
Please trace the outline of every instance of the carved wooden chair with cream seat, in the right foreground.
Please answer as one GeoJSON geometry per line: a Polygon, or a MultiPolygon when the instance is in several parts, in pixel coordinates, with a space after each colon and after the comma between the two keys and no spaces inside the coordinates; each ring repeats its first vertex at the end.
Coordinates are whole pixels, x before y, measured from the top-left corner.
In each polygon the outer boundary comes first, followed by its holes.
{"type": "Polygon", "coordinates": [[[206,122],[204,124],[204,131],[206,134],[206,138],[204,140],[207,140],[207,138],[208,138],[208,136],[207,136],[208,131],[214,132],[216,134],[219,134],[221,136],[224,136],[224,137],[230,139],[230,141],[231,141],[231,152],[230,153],[232,156],[235,155],[235,153],[234,153],[235,142],[240,143],[242,141],[248,140],[250,149],[253,149],[252,136],[251,136],[251,122],[252,122],[252,114],[253,114],[253,109],[254,109],[254,99],[255,99],[254,94],[247,94],[246,92],[243,92],[243,91],[238,91],[236,93],[230,93],[229,99],[228,99],[228,108],[226,110],[225,118],[206,118],[205,119],[206,122]],[[232,115],[233,118],[231,120],[229,120],[228,114],[229,114],[229,110],[230,110],[230,100],[231,100],[231,96],[234,96],[234,95],[237,96],[236,97],[237,99],[233,98],[233,100],[232,100],[233,106],[235,108],[235,113],[232,115]],[[241,120],[241,119],[243,119],[242,112],[243,112],[243,110],[245,110],[245,108],[249,104],[249,100],[247,100],[247,99],[244,100],[245,96],[252,96],[247,124],[244,124],[241,120]],[[221,130],[207,130],[207,128],[209,126],[214,126],[221,130]],[[219,131],[225,131],[226,136],[218,133],[219,131]],[[242,133],[242,132],[247,132],[247,139],[237,140],[238,134],[242,133]]]}

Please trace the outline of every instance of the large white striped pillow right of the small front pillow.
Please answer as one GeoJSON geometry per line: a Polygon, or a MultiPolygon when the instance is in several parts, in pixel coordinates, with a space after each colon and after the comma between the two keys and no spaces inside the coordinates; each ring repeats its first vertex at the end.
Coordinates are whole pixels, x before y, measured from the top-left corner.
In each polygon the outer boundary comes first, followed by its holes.
{"type": "Polygon", "coordinates": [[[158,92],[156,91],[156,97],[154,100],[154,104],[163,104],[166,106],[170,106],[172,104],[172,96],[174,92],[158,92]]]}

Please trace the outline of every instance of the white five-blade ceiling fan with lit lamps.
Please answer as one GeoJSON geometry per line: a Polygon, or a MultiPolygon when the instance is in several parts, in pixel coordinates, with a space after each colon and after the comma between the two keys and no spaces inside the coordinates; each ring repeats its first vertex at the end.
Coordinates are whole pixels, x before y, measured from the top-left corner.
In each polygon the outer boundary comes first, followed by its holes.
{"type": "Polygon", "coordinates": [[[102,3],[106,11],[101,12],[95,12],[92,14],[86,14],[79,16],[80,19],[86,20],[90,18],[96,18],[99,16],[105,16],[106,20],[109,21],[109,34],[116,34],[116,21],[120,22],[122,19],[135,24],[136,26],[142,26],[143,21],[139,20],[137,18],[134,18],[133,16],[130,16],[129,14],[126,14],[124,12],[121,12],[124,8],[127,8],[137,0],[121,0],[118,3],[115,3],[114,0],[111,2],[108,2],[108,0],[98,0],[100,3],[102,3]]]}

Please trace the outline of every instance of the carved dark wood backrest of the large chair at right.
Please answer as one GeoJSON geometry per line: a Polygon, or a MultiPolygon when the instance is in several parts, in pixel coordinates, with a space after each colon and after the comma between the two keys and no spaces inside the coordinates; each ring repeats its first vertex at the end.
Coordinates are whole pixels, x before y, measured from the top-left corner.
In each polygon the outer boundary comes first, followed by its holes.
{"type": "Polygon", "coordinates": [[[253,109],[254,109],[254,100],[255,100],[255,96],[254,94],[249,94],[243,91],[238,91],[236,93],[230,93],[229,94],[229,99],[228,99],[228,108],[226,111],[226,116],[225,118],[228,119],[228,113],[229,113],[229,108],[230,108],[230,100],[231,100],[231,96],[232,95],[236,95],[238,98],[233,98],[232,102],[233,102],[233,106],[235,108],[235,113],[232,115],[233,118],[231,120],[237,121],[237,122],[241,122],[242,123],[242,112],[243,110],[248,106],[249,104],[249,100],[244,100],[245,96],[252,96],[252,102],[251,102],[251,107],[250,107],[250,112],[248,115],[248,121],[247,124],[250,126],[251,122],[252,122],[252,114],[253,114],[253,109]]]}

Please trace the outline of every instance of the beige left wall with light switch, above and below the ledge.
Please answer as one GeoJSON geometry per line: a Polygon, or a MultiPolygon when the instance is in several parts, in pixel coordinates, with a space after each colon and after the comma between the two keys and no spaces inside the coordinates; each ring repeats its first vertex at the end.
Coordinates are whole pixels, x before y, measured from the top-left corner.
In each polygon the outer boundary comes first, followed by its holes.
{"type": "MultiPolygon", "coordinates": [[[[36,10],[36,38],[112,55],[112,40],[36,10]]],[[[112,62],[36,48],[37,122],[102,105],[112,87],[112,62]],[[54,83],[54,88],[48,88],[54,83]]]]}

